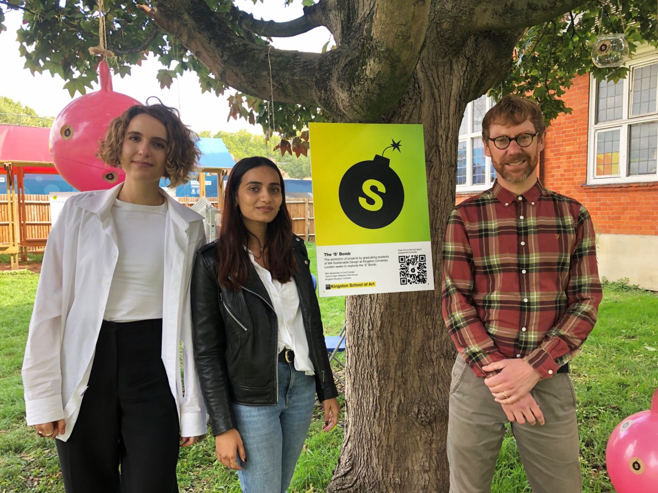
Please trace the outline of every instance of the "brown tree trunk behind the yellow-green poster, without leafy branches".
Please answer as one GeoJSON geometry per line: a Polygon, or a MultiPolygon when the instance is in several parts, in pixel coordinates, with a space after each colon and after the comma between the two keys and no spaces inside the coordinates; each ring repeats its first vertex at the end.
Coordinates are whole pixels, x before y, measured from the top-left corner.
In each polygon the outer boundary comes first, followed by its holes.
{"type": "Polygon", "coordinates": [[[468,101],[509,67],[517,38],[472,37],[447,58],[426,49],[401,104],[384,117],[424,126],[435,289],[347,297],[345,436],[327,492],[449,490],[445,439],[456,352],[443,325],[441,248],[455,205],[457,133],[468,101]]]}

